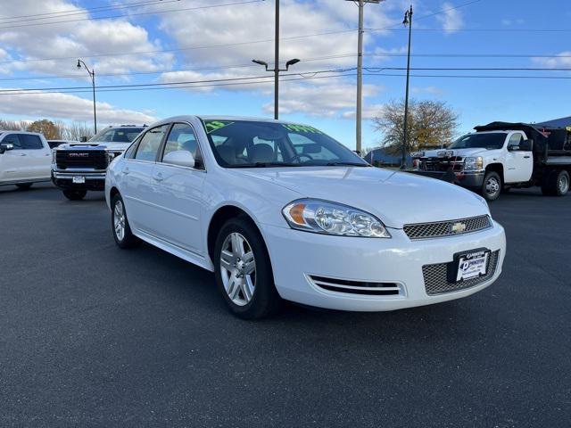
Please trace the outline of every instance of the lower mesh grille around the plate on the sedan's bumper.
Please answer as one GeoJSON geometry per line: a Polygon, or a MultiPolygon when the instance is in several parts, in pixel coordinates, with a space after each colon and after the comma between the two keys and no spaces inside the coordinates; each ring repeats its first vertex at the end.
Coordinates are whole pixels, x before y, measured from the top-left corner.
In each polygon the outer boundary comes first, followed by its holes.
{"type": "Polygon", "coordinates": [[[466,279],[459,283],[451,283],[448,281],[448,266],[451,265],[452,262],[423,266],[422,275],[425,279],[426,294],[433,296],[444,292],[458,292],[460,290],[466,290],[467,288],[483,284],[492,278],[493,274],[495,274],[499,258],[500,251],[492,251],[492,253],[490,253],[490,258],[488,259],[488,266],[486,268],[487,273],[484,276],[466,279]]]}

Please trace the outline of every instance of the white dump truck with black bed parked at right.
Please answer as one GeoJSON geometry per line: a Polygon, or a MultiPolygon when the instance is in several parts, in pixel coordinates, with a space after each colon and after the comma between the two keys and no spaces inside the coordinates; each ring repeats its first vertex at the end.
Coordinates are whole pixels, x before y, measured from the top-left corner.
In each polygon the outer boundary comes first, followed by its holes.
{"type": "Polygon", "coordinates": [[[498,199],[501,191],[534,185],[547,195],[568,192],[571,139],[566,132],[548,137],[532,125],[507,122],[475,129],[446,149],[412,153],[410,172],[471,188],[487,201],[498,199]]]}

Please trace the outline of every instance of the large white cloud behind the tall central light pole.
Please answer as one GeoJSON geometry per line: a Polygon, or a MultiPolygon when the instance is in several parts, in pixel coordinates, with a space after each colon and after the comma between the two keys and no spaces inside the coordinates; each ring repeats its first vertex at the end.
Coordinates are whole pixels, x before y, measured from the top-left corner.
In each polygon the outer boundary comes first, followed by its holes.
{"type": "MultiPolygon", "coordinates": [[[[269,62],[273,68],[274,57],[274,2],[263,4],[244,4],[240,7],[223,9],[206,9],[193,14],[188,20],[183,14],[165,15],[161,18],[161,29],[164,29],[177,42],[179,47],[228,45],[236,42],[253,40],[269,40],[265,43],[224,46],[210,49],[187,49],[183,51],[187,64],[192,66],[228,66],[248,64],[252,59],[269,62]]],[[[393,24],[386,17],[385,4],[368,4],[366,27],[383,28],[393,24]]],[[[320,0],[315,3],[282,0],[281,4],[281,37],[280,58],[284,62],[291,58],[299,58],[302,62],[295,64],[290,73],[313,70],[332,70],[352,68],[356,65],[357,32],[348,31],[328,34],[319,37],[287,39],[288,35],[319,34],[332,30],[350,30],[357,25],[358,9],[352,2],[340,0],[320,0]],[[324,58],[346,55],[343,58],[324,58]],[[308,61],[322,58],[319,61],[308,61]]],[[[377,33],[376,33],[377,34],[377,33]]],[[[373,41],[367,35],[366,45],[373,41]]],[[[196,71],[166,72],[161,76],[162,82],[211,80],[218,78],[244,78],[247,76],[266,75],[261,66],[240,69],[224,69],[203,73],[196,71]]],[[[268,73],[271,77],[271,74],[268,73]]],[[[269,79],[271,82],[271,80],[269,79]]],[[[239,83],[239,82],[236,82],[239,83]]],[[[239,90],[261,93],[271,97],[267,85],[232,85],[194,88],[192,90],[213,91],[239,90]]],[[[379,87],[368,85],[364,97],[376,95],[379,87]]],[[[283,83],[280,86],[280,109],[283,113],[304,112],[308,115],[331,117],[344,114],[354,109],[355,86],[344,78],[315,79],[308,82],[283,83]]],[[[273,103],[262,106],[263,111],[273,110],[273,103]]]]}

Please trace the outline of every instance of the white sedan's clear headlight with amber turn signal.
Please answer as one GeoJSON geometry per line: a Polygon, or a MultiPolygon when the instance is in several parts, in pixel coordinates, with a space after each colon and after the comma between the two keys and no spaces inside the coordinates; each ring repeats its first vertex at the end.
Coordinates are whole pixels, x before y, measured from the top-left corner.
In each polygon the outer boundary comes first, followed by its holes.
{"type": "Polygon", "coordinates": [[[368,212],[341,203],[300,199],[282,210],[285,220],[294,229],[325,235],[390,238],[381,220],[368,212]]]}

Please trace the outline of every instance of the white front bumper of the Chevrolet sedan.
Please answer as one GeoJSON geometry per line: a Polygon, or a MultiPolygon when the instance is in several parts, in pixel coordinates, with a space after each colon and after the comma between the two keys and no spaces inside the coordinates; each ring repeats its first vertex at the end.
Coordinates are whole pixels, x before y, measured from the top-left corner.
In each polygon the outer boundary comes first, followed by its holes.
{"type": "Polygon", "coordinates": [[[391,239],[318,235],[285,227],[262,226],[277,292],[285,300],[327,309],[384,311],[459,299],[483,290],[501,274],[506,252],[503,227],[493,222],[474,234],[410,241],[401,229],[391,239]],[[459,291],[428,295],[423,267],[450,263],[454,254],[485,248],[499,251],[493,274],[459,291]],[[360,295],[328,291],[310,277],[362,283],[396,284],[398,295],[360,295]]]}

